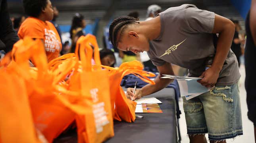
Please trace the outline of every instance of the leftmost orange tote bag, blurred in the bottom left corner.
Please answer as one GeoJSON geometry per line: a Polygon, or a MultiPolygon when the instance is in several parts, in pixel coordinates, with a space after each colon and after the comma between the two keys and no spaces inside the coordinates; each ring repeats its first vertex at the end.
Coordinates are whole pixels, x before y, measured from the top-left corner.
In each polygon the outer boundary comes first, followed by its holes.
{"type": "Polygon", "coordinates": [[[0,143],[39,143],[23,79],[0,70],[0,143]]]}

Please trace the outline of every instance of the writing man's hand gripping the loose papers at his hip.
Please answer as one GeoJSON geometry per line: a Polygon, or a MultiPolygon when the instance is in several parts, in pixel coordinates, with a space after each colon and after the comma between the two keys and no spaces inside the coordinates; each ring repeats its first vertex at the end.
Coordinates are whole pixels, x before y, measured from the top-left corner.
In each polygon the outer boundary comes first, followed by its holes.
{"type": "Polygon", "coordinates": [[[201,83],[201,85],[204,85],[207,88],[214,87],[214,85],[217,83],[219,72],[214,70],[214,68],[209,68],[208,70],[204,71],[200,77],[203,79],[198,80],[198,83],[201,83]]]}

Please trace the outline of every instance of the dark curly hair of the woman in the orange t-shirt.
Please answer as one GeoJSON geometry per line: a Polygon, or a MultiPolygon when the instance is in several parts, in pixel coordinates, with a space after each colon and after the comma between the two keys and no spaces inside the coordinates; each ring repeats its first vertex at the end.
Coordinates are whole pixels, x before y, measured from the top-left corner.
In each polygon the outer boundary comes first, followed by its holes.
{"type": "Polygon", "coordinates": [[[48,0],[23,0],[23,8],[28,16],[38,17],[47,3],[48,0]]]}

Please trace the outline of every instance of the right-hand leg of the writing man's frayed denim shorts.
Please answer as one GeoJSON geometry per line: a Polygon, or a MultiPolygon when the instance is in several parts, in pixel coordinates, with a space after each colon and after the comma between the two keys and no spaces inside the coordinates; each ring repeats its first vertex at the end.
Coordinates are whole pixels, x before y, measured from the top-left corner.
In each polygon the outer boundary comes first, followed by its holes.
{"type": "Polygon", "coordinates": [[[216,86],[207,93],[199,98],[204,107],[210,143],[225,143],[226,139],[243,135],[237,83],[216,86]]]}

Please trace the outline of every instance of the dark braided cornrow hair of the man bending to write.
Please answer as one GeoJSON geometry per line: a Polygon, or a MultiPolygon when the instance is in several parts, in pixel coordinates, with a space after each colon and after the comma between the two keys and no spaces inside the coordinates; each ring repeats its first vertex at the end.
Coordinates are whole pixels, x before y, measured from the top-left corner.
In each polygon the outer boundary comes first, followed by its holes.
{"type": "Polygon", "coordinates": [[[132,23],[139,23],[138,20],[139,19],[129,16],[120,16],[114,19],[109,27],[110,41],[114,47],[117,47],[117,43],[119,41],[117,40],[118,34],[120,35],[119,37],[121,37],[123,31],[127,28],[127,26],[132,23]]]}

